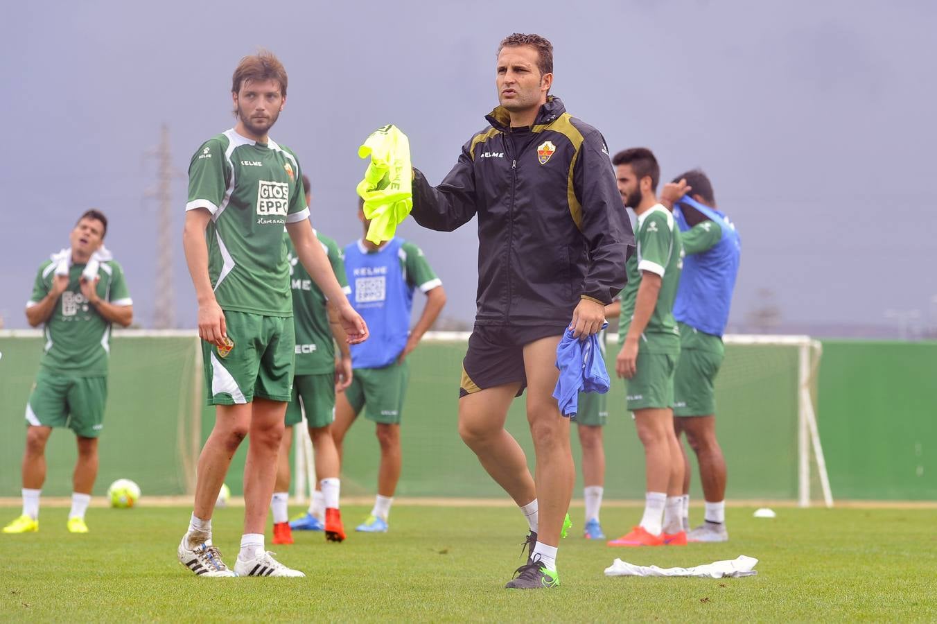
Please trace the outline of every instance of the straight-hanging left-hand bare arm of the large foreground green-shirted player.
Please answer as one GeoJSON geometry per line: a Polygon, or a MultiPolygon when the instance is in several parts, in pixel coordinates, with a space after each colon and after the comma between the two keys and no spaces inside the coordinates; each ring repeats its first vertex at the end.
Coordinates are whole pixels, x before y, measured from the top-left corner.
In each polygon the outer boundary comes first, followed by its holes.
{"type": "Polygon", "coordinates": [[[199,337],[221,346],[227,337],[225,313],[215,299],[215,290],[208,277],[208,245],[205,230],[212,214],[205,208],[186,211],[186,225],[182,232],[182,246],[186,252],[188,274],[192,276],[195,296],[199,302],[199,337]]]}

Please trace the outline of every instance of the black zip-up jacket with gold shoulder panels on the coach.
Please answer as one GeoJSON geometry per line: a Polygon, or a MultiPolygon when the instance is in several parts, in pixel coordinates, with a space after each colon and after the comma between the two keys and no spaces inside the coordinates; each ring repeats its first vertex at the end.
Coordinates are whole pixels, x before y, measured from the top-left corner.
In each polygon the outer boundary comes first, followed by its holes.
{"type": "Polygon", "coordinates": [[[560,326],[583,297],[610,304],[627,281],[634,235],[602,134],[558,97],[516,153],[508,112],[485,119],[442,184],[414,170],[411,213],[442,231],[478,214],[475,322],[560,326]]]}

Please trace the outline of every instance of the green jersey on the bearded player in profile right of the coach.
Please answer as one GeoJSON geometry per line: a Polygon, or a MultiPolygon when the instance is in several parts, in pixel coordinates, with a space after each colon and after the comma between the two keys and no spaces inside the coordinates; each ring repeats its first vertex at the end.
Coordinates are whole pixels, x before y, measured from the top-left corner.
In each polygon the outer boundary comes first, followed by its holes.
{"type": "Polygon", "coordinates": [[[683,245],[674,215],[661,204],[655,205],[638,215],[634,238],[637,250],[625,265],[628,284],[621,291],[618,342],[625,341],[643,272],[649,271],[661,275],[661,291],[644,334],[641,334],[640,349],[647,353],[679,353],[680,334],[674,319],[674,299],[683,268],[683,245]]]}

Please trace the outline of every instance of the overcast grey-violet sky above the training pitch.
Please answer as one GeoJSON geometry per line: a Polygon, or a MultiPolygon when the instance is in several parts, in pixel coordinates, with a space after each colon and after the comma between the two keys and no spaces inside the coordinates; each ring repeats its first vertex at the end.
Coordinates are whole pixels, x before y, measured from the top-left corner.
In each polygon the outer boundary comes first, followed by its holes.
{"type": "MultiPolygon", "coordinates": [[[[409,135],[439,182],[497,104],[495,52],[512,32],[555,48],[553,93],[610,149],[643,145],[665,178],[702,167],[743,254],[732,323],[774,292],[791,321],[881,323],[937,311],[934,146],[937,3],[21,2],[0,40],[7,147],[0,153],[0,315],[25,327],[38,264],[89,207],[111,219],[137,319],[156,297],[156,161],[171,131],[177,319],[196,305],[182,254],[185,171],[233,126],[231,72],[275,52],[289,95],[271,137],[300,157],[313,224],[361,235],[356,150],[379,126],[409,135]]],[[[402,234],[424,248],[471,320],[475,223],[402,234]]],[[[731,324],[730,324],[731,328],[731,324]]]]}

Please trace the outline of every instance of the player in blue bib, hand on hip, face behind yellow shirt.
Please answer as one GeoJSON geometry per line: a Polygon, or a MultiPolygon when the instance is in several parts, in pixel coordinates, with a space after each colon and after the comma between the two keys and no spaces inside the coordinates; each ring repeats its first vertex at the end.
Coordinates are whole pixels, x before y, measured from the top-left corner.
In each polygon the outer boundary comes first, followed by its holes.
{"type": "MultiPolygon", "coordinates": [[[[358,218],[366,234],[370,221],[364,218],[361,201],[358,218]]],[[[377,423],[378,496],[370,515],[356,530],[383,533],[400,479],[400,417],[409,379],[406,358],[436,322],[446,294],[420,247],[398,237],[381,245],[364,238],[351,243],[345,247],[345,272],[351,305],[365,319],[371,334],[367,343],[351,346],[354,375],[345,393],[336,397],[332,435],[341,457],[342,440],[363,408],[365,418],[377,423]],[[426,295],[426,305],[410,331],[413,292],[417,289],[426,295]]]]}

